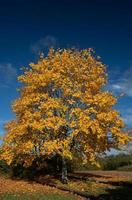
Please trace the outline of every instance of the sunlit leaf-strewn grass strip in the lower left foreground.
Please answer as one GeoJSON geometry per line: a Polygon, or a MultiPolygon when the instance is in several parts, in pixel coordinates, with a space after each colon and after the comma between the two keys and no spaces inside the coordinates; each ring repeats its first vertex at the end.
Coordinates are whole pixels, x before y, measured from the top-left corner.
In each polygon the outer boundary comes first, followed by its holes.
{"type": "Polygon", "coordinates": [[[28,182],[12,180],[2,174],[0,176],[0,200],[82,200],[83,198],[61,190],[28,182]]]}

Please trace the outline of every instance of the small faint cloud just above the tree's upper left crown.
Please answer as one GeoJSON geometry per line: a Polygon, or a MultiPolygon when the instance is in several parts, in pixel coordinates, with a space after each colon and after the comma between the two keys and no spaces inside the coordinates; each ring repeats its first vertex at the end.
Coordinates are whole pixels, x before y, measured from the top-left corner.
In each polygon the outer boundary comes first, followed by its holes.
{"type": "Polygon", "coordinates": [[[52,35],[47,35],[40,40],[36,41],[33,45],[31,45],[31,50],[35,54],[39,54],[40,52],[44,52],[50,47],[57,47],[58,41],[52,35]]]}

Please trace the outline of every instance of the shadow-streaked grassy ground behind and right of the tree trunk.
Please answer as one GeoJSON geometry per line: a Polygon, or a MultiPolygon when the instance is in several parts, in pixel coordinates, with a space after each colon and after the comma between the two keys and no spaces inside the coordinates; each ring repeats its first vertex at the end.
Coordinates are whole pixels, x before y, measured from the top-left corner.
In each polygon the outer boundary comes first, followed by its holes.
{"type": "Polygon", "coordinates": [[[97,200],[132,200],[132,173],[105,171],[73,174],[69,183],[63,185],[54,177],[40,177],[40,182],[48,179],[47,183],[54,183],[67,189],[76,190],[88,194],[90,199],[97,200]],[[77,178],[78,177],[78,178],[77,178]]]}

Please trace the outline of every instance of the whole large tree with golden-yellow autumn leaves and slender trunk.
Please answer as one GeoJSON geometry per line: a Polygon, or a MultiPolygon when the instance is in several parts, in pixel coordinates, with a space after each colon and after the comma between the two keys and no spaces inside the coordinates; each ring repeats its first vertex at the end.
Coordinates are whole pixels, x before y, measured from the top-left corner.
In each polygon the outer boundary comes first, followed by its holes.
{"type": "Polygon", "coordinates": [[[38,157],[96,163],[98,154],[128,141],[123,120],[104,90],[106,66],[91,49],[50,49],[18,77],[23,84],[13,103],[16,118],[6,124],[2,158],[29,166],[38,157]]]}

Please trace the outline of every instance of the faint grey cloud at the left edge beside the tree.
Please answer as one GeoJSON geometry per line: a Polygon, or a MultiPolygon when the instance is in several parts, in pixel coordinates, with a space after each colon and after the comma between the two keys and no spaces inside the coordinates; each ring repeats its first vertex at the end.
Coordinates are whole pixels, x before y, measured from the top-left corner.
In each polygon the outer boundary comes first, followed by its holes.
{"type": "Polygon", "coordinates": [[[16,80],[17,69],[11,63],[0,64],[0,87],[8,88],[16,80]]]}

